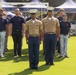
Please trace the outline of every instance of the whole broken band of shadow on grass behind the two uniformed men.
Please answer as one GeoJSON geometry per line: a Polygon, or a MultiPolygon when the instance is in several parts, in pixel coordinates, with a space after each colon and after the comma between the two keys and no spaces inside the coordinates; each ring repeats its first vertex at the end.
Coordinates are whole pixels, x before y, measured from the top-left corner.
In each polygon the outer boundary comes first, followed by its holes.
{"type": "MultiPolygon", "coordinates": [[[[64,58],[58,58],[55,56],[54,61],[59,62],[62,61],[64,58]]],[[[18,58],[13,58],[13,50],[8,50],[5,53],[4,58],[0,58],[0,61],[10,61],[13,60],[14,63],[20,62],[20,61],[28,61],[29,60],[29,55],[28,55],[28,49],[23,49],[22,50],[22,56],[18,58]]],[[[44,55],[43,55],[43,50],[40,50],[39,52],[39,61],[44,61],[44,55]]]]}

